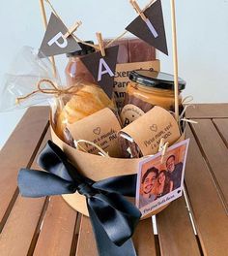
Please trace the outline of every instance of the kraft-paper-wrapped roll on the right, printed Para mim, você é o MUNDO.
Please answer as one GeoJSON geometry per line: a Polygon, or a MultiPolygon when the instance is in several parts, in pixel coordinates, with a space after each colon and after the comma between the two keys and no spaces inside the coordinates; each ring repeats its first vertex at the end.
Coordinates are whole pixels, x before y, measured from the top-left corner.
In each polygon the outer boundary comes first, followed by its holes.
{"type": "Polygon", "coordinates": [[[128,124],[119,135],[122,142],[124,138],[123,151],[129,147],[134,151],[140,151],[141,156],[156,154],[162,138],[165,143],[171,145],[181,137],[179,125],[174,116],[157,106],[128,124]],[[128,143],[125,143],[126,140],[128,143]]]}

